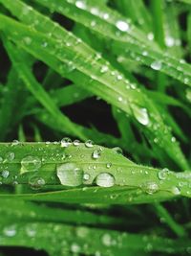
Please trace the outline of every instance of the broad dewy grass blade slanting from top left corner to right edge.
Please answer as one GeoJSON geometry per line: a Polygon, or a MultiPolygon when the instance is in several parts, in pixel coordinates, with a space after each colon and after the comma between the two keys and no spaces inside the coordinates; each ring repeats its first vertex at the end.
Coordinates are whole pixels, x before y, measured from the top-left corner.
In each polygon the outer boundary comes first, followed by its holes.
{"type": "MultiPolygon", "coordinates": [[[[180,168],[188,169],[179,144],[175,141],[169,128],[164,126],[158,109],[139,88],[135,88],[134,84],[126,80],[108,61],[97,55],[88,45],[53,23],[48,17],[35,12],[20,1],[6,1],[3,4],[24,23],[30,25],[30,27],[23,25],[1,15],[1,30],[7,36],[11,36],[16,44],[19,44],[34,57],[46,62],[62,76],[71,79],[108,103],[116,105],[133,119],[136,118],[138,128],[143,129],[146,135],[149,134],[150,143],[154,147],[157,144],[157,147],[166,151],[180,165],[180,168]],[[12,26],[18,34],[12,34],[12,26]],[[71,47],[72,45],[74,47],[71,47]],[[89,71],[90,65],[94,65],[94,75],[89,71]],[[155,138],[157,139],[155,140],[155,138]],[[154,140],[155,143],[153,143],[154,140]]],[[[185,64],[182,65],[184,67],[185,64]]],[[[189,69],[188,65],[185,65],[184,68],[185,71],[189,69]]]]}

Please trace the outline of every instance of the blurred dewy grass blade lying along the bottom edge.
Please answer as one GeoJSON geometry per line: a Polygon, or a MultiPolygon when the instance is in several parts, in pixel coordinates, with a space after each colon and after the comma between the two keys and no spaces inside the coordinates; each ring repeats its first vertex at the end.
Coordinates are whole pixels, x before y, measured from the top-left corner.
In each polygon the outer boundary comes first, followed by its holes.
{"type": "Polygon", "coordinates": [[[176,253],[185,251],[190,244],[190,241],[185,239],[171,240],[156,235],[134,235],[52,222],[14,223],[7,221],[7,223],[2,223],[0,221],[0,225],[0,245],[45,249],[53,255],[66,255],[66,253],[68,255],[68,252],[86,255],[93,255],[97,252],[108,256],[127,255],[129,250],[139,251],[139,253],[144,251],[176,253]],[[12,236],[7,236],[10,234],[9,230],[12,230],[12,233],[10,232],[12,236]]]}

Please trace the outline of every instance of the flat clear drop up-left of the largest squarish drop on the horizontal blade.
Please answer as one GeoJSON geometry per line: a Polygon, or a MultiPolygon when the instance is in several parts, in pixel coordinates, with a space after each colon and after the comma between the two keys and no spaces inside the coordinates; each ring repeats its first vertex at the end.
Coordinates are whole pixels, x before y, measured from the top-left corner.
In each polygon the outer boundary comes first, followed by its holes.
{"type": "Polygon", "coordinates": [[[35,172],[42,165],[41,159],[38,156],[28,155],[21,160],[21,174],[26,172],[35,172]]]}

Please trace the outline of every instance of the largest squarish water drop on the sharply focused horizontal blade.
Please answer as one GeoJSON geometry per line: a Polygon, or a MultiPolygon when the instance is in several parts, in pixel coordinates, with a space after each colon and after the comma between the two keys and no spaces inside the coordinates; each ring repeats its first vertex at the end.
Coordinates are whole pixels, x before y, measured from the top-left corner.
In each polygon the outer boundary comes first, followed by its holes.
{"type": "Polygon", "coordinates": [[[84,172],[74,163],[64,163],[57,165],[56,175],[64,186],[79,186],[83,182],[84,172]]]}

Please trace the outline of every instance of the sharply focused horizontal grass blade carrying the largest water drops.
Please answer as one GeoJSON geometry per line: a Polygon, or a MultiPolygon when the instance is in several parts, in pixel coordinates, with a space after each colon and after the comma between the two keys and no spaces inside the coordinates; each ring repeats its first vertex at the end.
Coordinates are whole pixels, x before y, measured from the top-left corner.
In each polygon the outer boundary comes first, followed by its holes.
{"type": "Polygon", "coordinates": [[[91,142],[77,145],[68,139],[61,144],[0,144],[2,184],[13,180],[44,191],[8,197],[70,203],[143,203],[191,197],[189,171],[173,173],[138,166],[118,154],[118,149],[91,142]],[[58,191],[49,192],[52,186],[58,191]]]}

